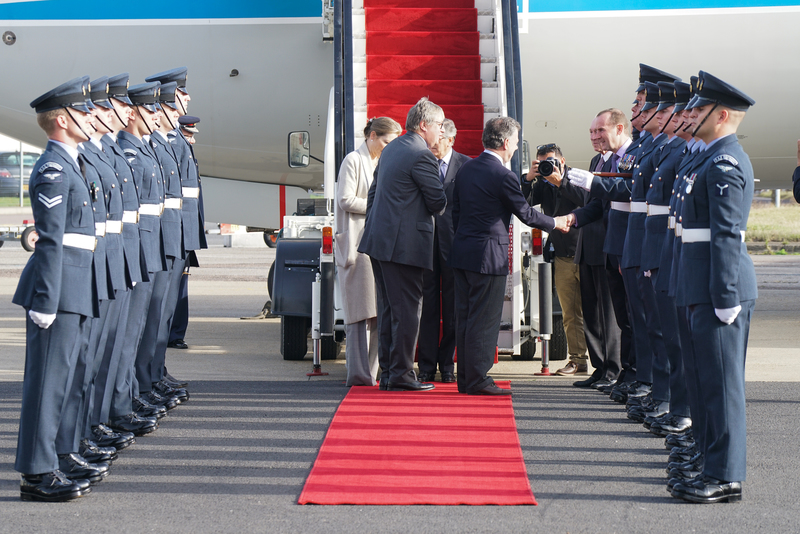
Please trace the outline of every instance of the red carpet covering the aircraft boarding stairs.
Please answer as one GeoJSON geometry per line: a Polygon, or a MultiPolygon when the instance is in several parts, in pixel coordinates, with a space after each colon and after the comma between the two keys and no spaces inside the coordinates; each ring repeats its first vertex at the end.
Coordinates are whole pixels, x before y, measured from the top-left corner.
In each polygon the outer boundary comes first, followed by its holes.
{"type": "Polygon", "coordinates": [[[458,134],[455,150],[483,151],[480,34],[474,0],[364,0],[367,114],[405,125],[427,96],[458,134]]]}

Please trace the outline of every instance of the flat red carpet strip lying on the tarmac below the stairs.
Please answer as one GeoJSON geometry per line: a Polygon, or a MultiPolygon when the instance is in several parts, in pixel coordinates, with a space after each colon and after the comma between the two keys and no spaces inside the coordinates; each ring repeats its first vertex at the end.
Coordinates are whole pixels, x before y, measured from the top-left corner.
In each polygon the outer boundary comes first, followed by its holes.
{"type": "Polygon", "coordinates": [[[536,504],[511,396],[352,387],[298,503],[536,504]]]}

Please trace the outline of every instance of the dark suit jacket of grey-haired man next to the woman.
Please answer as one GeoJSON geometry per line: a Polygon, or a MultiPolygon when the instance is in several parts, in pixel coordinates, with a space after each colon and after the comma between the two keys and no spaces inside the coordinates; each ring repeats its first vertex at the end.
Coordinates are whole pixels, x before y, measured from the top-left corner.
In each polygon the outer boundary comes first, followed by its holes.
{"type": "Polygon", "coordinates": [[[433,215],[446,205],[436,158],[421,135],[406,132],[381,153],[358,251],[378,261],[433,269],[433,215]]]}

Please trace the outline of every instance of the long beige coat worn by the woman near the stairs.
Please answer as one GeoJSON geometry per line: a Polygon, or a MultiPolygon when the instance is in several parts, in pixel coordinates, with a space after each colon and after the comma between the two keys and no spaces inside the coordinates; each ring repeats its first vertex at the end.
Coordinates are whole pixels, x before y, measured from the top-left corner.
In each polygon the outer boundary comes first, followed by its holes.
{"type": "Polygon", "coordinates": [[[375,278],[369,256],[357,251],[364,233],[367,192],[375,171],[367,144],[349,153],[339,169],[336,184],[335,255],[345,323],[377,317],[375,278]]]}

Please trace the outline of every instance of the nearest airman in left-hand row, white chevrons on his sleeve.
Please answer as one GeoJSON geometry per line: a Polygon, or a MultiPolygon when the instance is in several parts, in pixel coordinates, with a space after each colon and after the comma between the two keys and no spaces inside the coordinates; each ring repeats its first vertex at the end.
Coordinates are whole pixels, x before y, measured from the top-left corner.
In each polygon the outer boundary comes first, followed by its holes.
{"type": "MultiPolygon", "coordinates": [[[[49,139],[30,178],[39,240],[13,302],[26,310],[25,377],[15,469],[25,500],[65,501],[90,491],[86,479],[59,471],[56,437],[62,407],[97,313],[92,197],[78,143],[88,140],[82,78],[31,103],[49,139]]],[[[76,462],[78,458],[75,458],[76,462]]],[[[85,462],[83,462],[85,463],[85,462]]],[[[96,475],[96,469],[87,472],[96,475]]]]}

